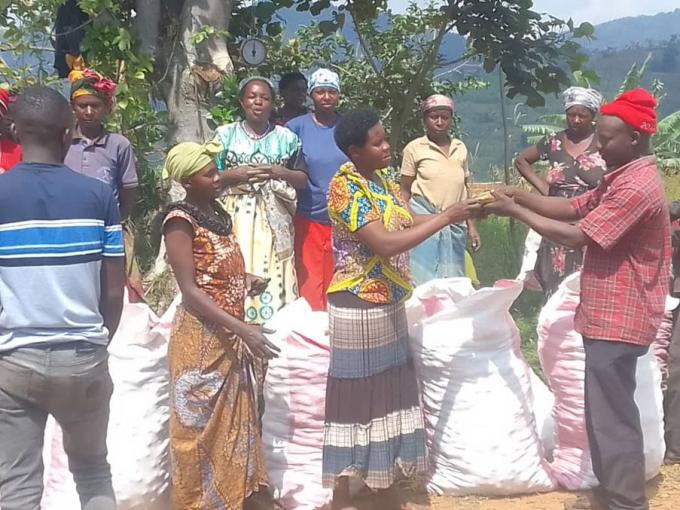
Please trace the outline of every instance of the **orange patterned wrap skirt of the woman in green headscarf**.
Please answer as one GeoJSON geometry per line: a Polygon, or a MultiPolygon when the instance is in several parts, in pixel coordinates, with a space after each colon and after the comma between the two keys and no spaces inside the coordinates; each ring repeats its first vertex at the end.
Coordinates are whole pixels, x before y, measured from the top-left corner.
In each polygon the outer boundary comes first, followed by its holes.
{"type": "Polygon", "coordinates": [[[267,485],[256,387],[243,342],[177,309],[168,351],[173,510],[240,510],[267,485]]]}

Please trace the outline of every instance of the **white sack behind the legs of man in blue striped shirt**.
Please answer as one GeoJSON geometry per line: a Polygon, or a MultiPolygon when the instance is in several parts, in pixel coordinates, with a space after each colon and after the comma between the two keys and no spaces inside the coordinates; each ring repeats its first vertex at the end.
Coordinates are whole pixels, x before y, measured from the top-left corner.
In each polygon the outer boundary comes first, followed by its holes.
{"type": "MultiPolygon", "coordinates": [[[[120,510],[170,506],[167,348],[178,296],[158,318],[144,303],[123,308],[109,346],[114,390],[107,436],[108,460],[120,510]]],[[[62,433],[50,418],[45,441],[43,510],[80,508],[62,433]]]]}

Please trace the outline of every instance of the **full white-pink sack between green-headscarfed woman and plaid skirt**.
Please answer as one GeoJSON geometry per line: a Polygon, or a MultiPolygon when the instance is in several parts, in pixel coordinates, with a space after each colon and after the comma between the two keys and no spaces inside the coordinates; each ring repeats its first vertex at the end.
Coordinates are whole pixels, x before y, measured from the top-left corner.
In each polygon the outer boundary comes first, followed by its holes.
{"type": "Polygon", "coordinates": [[[287,509],[314,510],[331,499],[321,486],[328,315],[304,299],[277,312],[267,327],[281,349],[269,362],[262,426],[269,483],[287,509]]]}

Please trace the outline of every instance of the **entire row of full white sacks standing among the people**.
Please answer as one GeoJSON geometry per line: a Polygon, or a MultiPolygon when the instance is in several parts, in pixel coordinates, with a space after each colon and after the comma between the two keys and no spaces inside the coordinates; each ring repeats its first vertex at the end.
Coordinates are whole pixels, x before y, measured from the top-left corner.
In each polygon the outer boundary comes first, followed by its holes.
{"type": "MultiPolygon", "coordinates": [[[[565,282],[539,324],[541,360],[557,401],[519,349],[509,308],[521,281],[475,290],[469,280],[452,278],[416,289],[407,315],[427,428],[430,492],[501,496],[594,484],[583,427],[582,346],[573,331],[574,282],[577,277],[565,282]]],[[[168,507],[164,357],[173,313],[174,306],[158,318],[145,305],[126,305],[131,315],[112,342],[116,390],[109,460],[122,510],[168,507]]],[[[281,349],[264,387],[270,483],[284,507],[312,510],[331,497],[320,483],[328,318],[298,300],[269,326],[281,349]]],[[[663,458],[659,377],[654,356],[643,358],[636,398],[649,477],[663,458]]],[[[60,431],[52,426],[47,437],[43,508],[78,508],[60,431]]]]}

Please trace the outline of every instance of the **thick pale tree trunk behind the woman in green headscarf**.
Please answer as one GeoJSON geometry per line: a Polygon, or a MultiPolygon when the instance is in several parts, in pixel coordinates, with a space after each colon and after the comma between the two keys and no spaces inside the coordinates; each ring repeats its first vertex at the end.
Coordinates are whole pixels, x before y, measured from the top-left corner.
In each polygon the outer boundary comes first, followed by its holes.
{"type": "Polygon", "coordinates": [[[192,36],[206,26],[228,30],[232,0],[184,0],[176,8],[178,23],[172,23],[177,19],[173,13],[166,16],[170,23],[161,34],[158,60],[162,64],[157,66],[164,70],[160,86],[171,122],[168,141],[202,142],[211,135],[206,123],[211,92],[234,67],[223,36],[210,37],[199,47],[192,36]],[[206,81],[195,72],[197,68],[216,71],[218,81],[206,81]]]}

